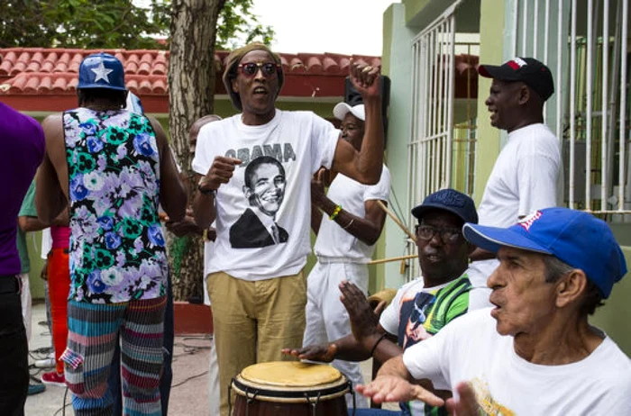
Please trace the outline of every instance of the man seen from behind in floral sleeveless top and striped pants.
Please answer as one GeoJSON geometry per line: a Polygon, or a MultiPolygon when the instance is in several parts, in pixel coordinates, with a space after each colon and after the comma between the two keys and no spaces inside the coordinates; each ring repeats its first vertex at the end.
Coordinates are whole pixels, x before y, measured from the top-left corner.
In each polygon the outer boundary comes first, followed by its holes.
{"type": "Polygon", "coordinates": [[[158,205],[184,217],[187,194],[160,123],[125,110],[123,63],[81,61],[78,108],[43,122],[42,222],[69,209],[68,346],[61,356],[76,415],[111,414],[107,377],[121,339],[124,414],[161,414],[167,305],[158,205]]]}

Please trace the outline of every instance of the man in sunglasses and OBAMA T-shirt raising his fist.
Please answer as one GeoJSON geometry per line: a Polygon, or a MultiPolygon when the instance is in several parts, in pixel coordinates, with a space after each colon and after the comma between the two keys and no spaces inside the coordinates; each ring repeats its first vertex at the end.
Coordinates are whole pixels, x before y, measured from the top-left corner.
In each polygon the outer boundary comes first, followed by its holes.
{"type": "Polygon", "coordinates": [[[326,167],[365,184],[380,179],[384,145],[380,69],[352,64],[350,72],[366,109],[360,150],[339,140],[340,131],[314,113],[276,108],[285,76],[279,56],[261,43],[233,50],[226,62],[224,86],[242,113],[199,131],[192,166],[203,177],[194,211],[202,228],[216,220],[215,261],[206,283],[213,304],[224,416],[227,387],[234,375],[257,362],[283,359],[281,348],[302,341],[311,177],[326,167]],[[248,247],[240,244],[243,239],[231,240],[230,230],[251,207],[250,196],[243,192],[245,171],[261,157],[277,159],[284,169],[284,197],[272,201],[278,204],[274,222],[280,244],[248,247]]]}

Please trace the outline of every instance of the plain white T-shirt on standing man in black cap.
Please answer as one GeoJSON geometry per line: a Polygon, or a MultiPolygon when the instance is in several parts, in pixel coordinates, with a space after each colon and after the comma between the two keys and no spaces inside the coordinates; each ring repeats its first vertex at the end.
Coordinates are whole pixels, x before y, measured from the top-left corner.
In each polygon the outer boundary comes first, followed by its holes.
{"type": "MultiPolygon", "coordinates": [[[[530,124],[508,134],[478,207],[480,225],[509,227],[535,210],[556,206],[561,166],[559,140],[545,124],[530,124]]],[[[471,263],[474,286],[486,285],[496,259],[471,263]]]]}

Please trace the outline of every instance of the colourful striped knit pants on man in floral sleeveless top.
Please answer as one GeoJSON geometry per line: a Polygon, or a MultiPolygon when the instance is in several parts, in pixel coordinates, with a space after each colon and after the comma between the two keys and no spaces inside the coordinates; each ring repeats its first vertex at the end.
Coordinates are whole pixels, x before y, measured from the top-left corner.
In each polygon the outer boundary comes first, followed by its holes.
{"type": "Polygon", "coordinates": [[[61,359],[77,416],[109,416],[112,412],[107,377],[119,331],[123,414],[161,414],[159,385],[166,304],[167,296],[110,304],[69,301],[68,348],[61,359]]]}

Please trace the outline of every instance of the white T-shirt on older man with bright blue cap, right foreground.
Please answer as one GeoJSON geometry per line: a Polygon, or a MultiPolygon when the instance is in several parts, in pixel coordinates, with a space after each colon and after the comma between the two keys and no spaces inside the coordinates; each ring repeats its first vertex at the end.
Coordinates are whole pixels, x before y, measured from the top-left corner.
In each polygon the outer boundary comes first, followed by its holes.
{"type": "Polygon", "coordinates": [[[485,414],[631,414],[631,361],[613,340],[606,337],[576,363],[535,365],[517,356],[513,337],[498,334],[490,309],[468,313],[407,348],[403,362],[415,378],[452,389],[471,382],[485,414]]]}

